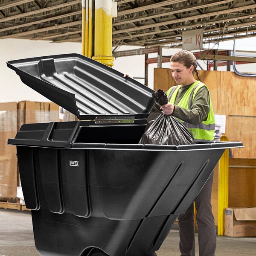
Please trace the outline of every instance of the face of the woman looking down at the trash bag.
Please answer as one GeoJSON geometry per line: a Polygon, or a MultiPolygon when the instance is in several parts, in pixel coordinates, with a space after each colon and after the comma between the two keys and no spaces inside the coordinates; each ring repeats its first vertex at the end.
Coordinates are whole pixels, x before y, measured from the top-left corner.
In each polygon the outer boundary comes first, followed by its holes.
{"type": "Polygon", "coordinates": [[[177,84],[183,86],[191,84],[195,79],[193,76],[194,67],[186,68],[182,62],[170,62],[172,77],[177,84]]]}

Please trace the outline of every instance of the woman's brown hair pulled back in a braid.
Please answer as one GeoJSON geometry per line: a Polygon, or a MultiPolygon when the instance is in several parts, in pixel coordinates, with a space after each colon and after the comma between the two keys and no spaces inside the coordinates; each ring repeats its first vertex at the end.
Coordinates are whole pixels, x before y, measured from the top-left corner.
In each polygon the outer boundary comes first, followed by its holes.
{"type": "Polygon", "coordinates": [[[194,67],[193,73],[196,73],[196,76],[200,80],[198,71],[197,71],[197,61],[195,58],[195,55],[192,52],[181,50],[179,52],[176,52],[174,55],[172,55],[170,61],[173,62],[181,62],[186,68],[189,68],[191,66],[194,67]]]}

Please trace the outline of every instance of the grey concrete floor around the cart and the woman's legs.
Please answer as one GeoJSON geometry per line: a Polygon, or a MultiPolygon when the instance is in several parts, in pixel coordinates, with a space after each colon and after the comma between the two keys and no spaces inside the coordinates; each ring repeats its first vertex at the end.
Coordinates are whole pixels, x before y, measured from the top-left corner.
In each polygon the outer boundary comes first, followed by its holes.
{"type": "MultiPolygon", "coordinates": [[[[216,256],[256,256],[256,237],[218,236],[217,242],[216,256]]],[[[170,231],[156,253],[157,256],[180,255],[177,229],[170,231]]],[[[34,244],[30,212],[0,209],[0,256],[38,255],[34,244]]]]}

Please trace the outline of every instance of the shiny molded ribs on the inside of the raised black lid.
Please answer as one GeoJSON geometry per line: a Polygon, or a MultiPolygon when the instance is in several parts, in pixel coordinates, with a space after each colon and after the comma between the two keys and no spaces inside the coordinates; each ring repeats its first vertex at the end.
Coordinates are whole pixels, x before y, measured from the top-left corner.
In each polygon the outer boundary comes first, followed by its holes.
{"type": "Polygon", "coordinates": [[[51,77],[43,76],[42,79],[74,93],[80,114],[117,115],[145,112],[143,105],[99,77],[92,76],[78,67],[74,67],[73,71],[74,73],[54,73],[51,77]],[[87,79],[83,81],[81,75],[84,74],[87,79]]]}

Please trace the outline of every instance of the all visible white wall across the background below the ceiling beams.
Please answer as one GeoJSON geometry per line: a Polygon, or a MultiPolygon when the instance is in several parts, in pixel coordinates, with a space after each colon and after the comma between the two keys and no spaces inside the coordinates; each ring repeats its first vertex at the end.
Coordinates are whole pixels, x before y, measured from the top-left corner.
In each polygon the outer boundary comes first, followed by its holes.
{"type": "MultiPolygon", "coordinates": [[[[236,40],[237,50],[252,50],[256,52],[256,37],[236,40]]],[[[217,47],[217,46],[216,46],[217,47]]],[[[215,48],[216,48],[215,47],[215,48]]],[[[138,47],[122,46],[118,50],[129,50],[138,47]]],[[[220,43],[218,49],[233,49],[233,41],[220,43]]],[[[172,55],[180,49],[163,49],[163,55],[172,55]]],[[[21,100],[49,101],[20,81],[15,71],[6,66],[7,61],[36,56],[55,55],[63,53],[81,53],[81,43],[49,43],[48,41],[32,41],[23,39],[0,40],[0,102],[12,102],[21,100]]],[[[148,58],[157,57],[157,53],[148,55],[148,58]]],[[[255,56],[254,56],[255,57],[255,56]]],[[[199,61],[206,69],[206,63],[199,61]]],[[[113,68],[122,72],[130,73],[134,77],[144,77],[144,55],[119,57],[114,60],[113,68]]],[[[148,86],[153,88],[154,68],[157,64],[148,66],[148,86]]],[[[163,63],[162,67],[169,68],[169,63],[163,63]]],[[[240,72],[255,73],[256,64],[237,65],[240,72]]],[[[218,67],[218,70],[226,70],[226,67],[218,67]]],[[[137,79],[144,84],[144,79],[137,79]]]]}

